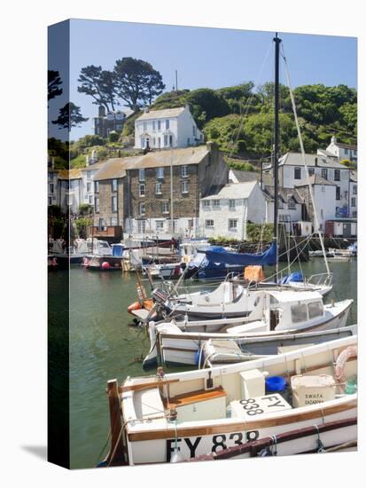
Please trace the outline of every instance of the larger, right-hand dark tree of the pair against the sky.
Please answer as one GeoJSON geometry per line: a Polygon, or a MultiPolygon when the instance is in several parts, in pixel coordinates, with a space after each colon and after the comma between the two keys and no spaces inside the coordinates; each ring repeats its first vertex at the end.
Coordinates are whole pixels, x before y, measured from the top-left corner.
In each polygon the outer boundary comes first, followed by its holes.
{"type": "Polygon", "coordinates": [[[113,75],[118,97],[132,110],[152,104],[152,99],[165,88],[159,71],[142,59],[118,59],[113,75]]]}

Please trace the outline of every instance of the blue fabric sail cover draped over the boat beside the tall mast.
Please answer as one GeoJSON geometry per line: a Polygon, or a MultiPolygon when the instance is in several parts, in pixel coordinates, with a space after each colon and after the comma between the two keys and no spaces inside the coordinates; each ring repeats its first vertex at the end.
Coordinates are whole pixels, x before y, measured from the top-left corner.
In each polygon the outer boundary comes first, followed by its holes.
{"type": "Polygon", "coordinates": [[[276,243],[272,242],[270,247],[261,254],[234,253],[217,246],[204,251],[206,258],[213,263],[239,264],[241,266],[276,264],[276,243]]]}

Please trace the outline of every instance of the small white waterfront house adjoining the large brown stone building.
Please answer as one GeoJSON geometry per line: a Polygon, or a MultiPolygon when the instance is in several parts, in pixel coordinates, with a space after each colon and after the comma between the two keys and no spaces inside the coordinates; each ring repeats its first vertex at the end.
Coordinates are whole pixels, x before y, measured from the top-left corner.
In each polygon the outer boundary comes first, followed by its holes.
{"type": "Polygon", "coordinates": [[[199,233],[246,239],[246,224],[266,222],[266,196],[257,181],[232,183],[200,200],[199,233]]]}

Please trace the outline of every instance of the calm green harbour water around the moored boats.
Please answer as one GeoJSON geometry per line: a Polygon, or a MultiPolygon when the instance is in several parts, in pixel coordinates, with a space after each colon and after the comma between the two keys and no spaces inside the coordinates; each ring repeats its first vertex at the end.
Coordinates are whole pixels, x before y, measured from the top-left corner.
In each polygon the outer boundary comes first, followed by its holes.
{"type": "MultiPolygon", "coordinates": [[[[327,297],[354,298],[349,323],[356,323],[357,262],[331,263],[333,291],[327,297]]],[[[321,259],[303,264],[309,276],[324,271],[321,259]]],[[[295,268],[293,268],[295,271],[295,268]]],[[[64,272],[50,276],[50,302],[57,303],[58,283],[64,272]]],[[[146,290],[149,287],[146,284],[146,290]]],[[[121,382],[127,375],[144,374],[141,358],[149,349],[144,333],[128,327],[129,303],[136,301],[136,277],[120,272],[88,272],[74,268],[70,273],[70,438],[71,467],[91,468],[105,445],[109,413],[107,380],[121,382]]],[[[57,309],[55,309],[57,310],[57,309]]],[[[58,324],[58,313],[51,312],[58,324]]],[[[173,369],[168,368],[168,372],[173,369]]]]}

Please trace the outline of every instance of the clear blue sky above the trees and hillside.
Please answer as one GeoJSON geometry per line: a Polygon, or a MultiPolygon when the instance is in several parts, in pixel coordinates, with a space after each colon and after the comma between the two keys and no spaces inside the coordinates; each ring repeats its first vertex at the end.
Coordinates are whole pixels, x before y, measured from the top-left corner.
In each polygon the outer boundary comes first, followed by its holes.
{"type": "MultiPolygon", "coordinates": [[[[66,45],[66,29],[50,29],[50,54],[66,45]],[[58,30],[58,35],[55,31],[58,30]],[[58,45],[53,50],[52,46],[58,45]]],[[[357,88],[357,40],[355,37],[278,33],[290,69],[292,87],[323,83],[340,83],[357,88]]],[[[61,77],[70,76],[70,100],[90,117],[80,128],[73,128],[71,139],[92,134],[91,117],[97,115],[92,98],[78,93],[77,79],[82,67],[102,66],[113,70],[116,59],[144,59],[160,71],[166,91],[178,88],[221,88],[253,81],[256,85],[274,78],[273,32],[221,28],[190,28],[157,24],[138,24],[104,20],[70,21],[70,64],[49,57],[49,68],[58,69],[61,77]]],[[[281,83],[286,83],[284,67],[281,83]]],[[[51,100],[51,114],[57,114],[60,97],[51,100]]],[[[121,106],[123,110],[123,106],[121,106]]],[[[52,128],[57,131],[56,126],[52,128]]]]}

